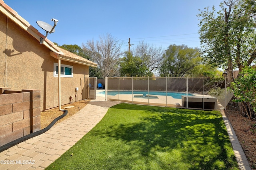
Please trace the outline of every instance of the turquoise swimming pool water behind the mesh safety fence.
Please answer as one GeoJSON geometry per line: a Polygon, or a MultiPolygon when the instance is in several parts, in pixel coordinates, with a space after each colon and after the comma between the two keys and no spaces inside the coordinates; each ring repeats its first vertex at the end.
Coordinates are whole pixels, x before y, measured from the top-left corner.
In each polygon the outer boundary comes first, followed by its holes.
{"type": "MultiPolygon", "coordinates": [[[[99,92],[99,94],[105,94],[105,91],[99,92]]],[[[115,96],[118,94],[118,91],[108,91],[108,95],[115,96]]],[[[143,94],[143,96],[146,96],[148,94],[148,91],[119,91],[119,94],[143,94]]],[[[150,95],[160,95],[160,96],[166,96],[166,92],[149,92],[150,95]]],[[[186,95],[186,93],[182,92],[167,92],[167,96],[172,96],[174,99],[181,99],[182,95],[186,95]]],[[[188,96],[194,96],[193,94],[188,94],[188,96]]]]}

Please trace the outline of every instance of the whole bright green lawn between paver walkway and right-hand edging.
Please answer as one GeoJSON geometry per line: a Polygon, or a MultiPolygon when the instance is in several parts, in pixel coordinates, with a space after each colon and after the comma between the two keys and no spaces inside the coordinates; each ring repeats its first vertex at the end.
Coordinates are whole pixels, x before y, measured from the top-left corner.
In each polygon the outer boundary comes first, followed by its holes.
{"type": "Polygon", "coordinates": [[[118,104],[46,170],[236,169],[219,111],[118,104]]]}

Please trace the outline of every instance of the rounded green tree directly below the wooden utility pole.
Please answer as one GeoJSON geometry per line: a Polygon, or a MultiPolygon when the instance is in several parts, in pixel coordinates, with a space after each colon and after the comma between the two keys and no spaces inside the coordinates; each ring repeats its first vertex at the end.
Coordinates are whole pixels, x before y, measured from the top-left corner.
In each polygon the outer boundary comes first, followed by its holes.
{"type": "Polygon", "coordinates": [[[121,74],[138,74],[138,76],[150,73],[142,59],[138,56],[132,56],[129,52],[125,52],[125,57],[120,60],[119,71],[121,74]]]}

